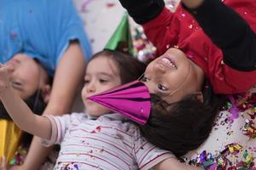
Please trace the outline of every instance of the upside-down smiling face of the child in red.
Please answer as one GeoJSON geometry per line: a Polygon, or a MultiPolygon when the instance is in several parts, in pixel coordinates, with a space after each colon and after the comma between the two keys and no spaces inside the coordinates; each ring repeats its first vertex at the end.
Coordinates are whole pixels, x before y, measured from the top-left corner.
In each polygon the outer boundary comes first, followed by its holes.
{"type": "Polygon", "coordinates": [[[201,68],[181,50],[170,48],[147,66],[143,82],[151,94],[159,94],[171,104],[187,94],[201,91],[203,75],[201,68]]]}

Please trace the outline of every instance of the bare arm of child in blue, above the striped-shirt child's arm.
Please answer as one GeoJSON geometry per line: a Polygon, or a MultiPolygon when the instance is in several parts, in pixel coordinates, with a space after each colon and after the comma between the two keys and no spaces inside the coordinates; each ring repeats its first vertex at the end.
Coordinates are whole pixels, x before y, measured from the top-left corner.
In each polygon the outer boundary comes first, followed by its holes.
{"type": "Polygon", "coordinates": [[[62,115],[70,112],[84,69],[85,60],[79,42],[71,42],[56,68],[52,93],[44,114],[62,115]]]}

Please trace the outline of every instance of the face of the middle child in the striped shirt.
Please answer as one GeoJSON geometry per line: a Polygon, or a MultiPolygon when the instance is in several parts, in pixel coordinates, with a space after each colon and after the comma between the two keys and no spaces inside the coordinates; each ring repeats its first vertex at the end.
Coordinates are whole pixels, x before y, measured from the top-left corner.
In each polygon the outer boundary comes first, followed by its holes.
{"type": "Polygon", "coordinates": [[[121,85],[119,68],[113,59],[104,56],[92,59],[87,65],[84,88],[82,90],[82,99],[88,114],[91,116],[102,116],[108,113],[109,110],[107,108],[87,98],[119,85],[121,85]]]}

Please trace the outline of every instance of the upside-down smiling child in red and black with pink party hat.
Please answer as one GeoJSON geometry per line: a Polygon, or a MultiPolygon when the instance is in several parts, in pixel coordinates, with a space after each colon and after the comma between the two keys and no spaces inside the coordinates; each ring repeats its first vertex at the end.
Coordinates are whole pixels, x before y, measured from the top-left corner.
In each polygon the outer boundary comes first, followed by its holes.
{"type": "Polygon", "coordinates": [[[125,99],[113,103],[104,93],[90,99],[138,122],[150,143],[183,156],[211,133],[222,94],[245,93],[256,84],[256,1],[181,0],[174,13],[163,0],[119,2],[161,54],[141,79],[151,95],[150,113],[127,111],[125,99]]]}

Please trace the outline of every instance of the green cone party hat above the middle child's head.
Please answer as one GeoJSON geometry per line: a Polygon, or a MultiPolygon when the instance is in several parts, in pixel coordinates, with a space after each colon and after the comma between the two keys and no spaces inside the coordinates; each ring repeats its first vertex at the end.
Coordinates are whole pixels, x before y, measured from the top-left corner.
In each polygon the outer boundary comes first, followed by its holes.
{"type": "Polygon", "coordinates": [[[133,54],[131,31],[127,13],[124,14],[119,26],[113,32],[113,35],[108,40],[105,48],[133,54]]]}

